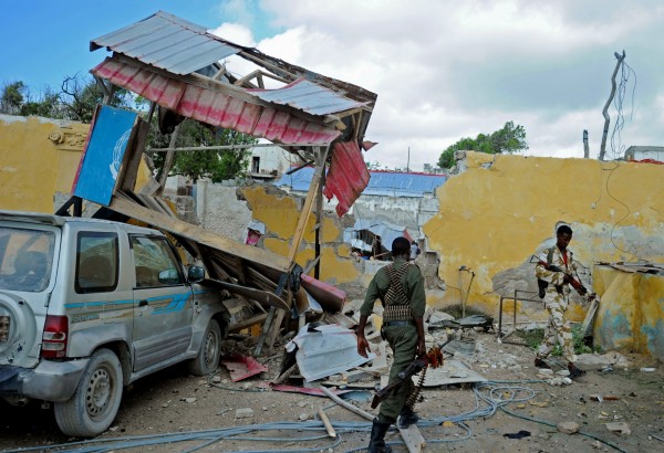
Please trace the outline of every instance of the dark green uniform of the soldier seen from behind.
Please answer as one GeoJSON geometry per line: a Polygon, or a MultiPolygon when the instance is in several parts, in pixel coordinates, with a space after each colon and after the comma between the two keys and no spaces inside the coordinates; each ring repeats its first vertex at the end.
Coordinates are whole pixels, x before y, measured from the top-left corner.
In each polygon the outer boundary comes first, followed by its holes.
{"type": "MultiPolygon", "coordinates": [[[[424,293],[424,277],[419,267],[414,264],[406,263],[404,259],[397,257],[393,264],[395,270],[401,266],[408,266],[404,275],[401,277],[401,284],[404,295],[407,297],[409,305],[409,315],[403,316],[403,320],[413,320],[413,317],[424,316],[426,309],[426,297],[424,293]]],[[[387,266],[385,266],[387,267],[387,266]]],[[[393,301],[388,301],[387,291],[390,289],[390,277],[386,268],[383,267],[374,275],[369,284],[364,303],[360,308],[360,314],[364,316],[371,315],[376,299],[381,299],[384,306],[392,305],[393,301]]],[[[384,322],[387,319],[387,309],[384,312],[384,322]]],[[[394,318],[394,320],[397,320],[394,318]]],[[[414,323],[403,326],[384,327],[385,339],[394,351],[394,360],[390,368],[390,382],[394,381],[400,372],[408,367],[415,359],[417,350],[417,328],[414,323]]],[[[382,403],[378,413],[378,421],[382,423],[394,423],[406,398],[413,391],[414,384],[412,380],[406,380],[404,383],[382,403]]]]}

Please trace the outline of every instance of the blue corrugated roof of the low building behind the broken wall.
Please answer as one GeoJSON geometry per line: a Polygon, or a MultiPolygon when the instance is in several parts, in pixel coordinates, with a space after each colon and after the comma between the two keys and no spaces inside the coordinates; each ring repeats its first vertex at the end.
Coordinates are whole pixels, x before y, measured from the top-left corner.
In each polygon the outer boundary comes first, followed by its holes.
{"type": "MultiPolygon", "coordinates": [[[[401,173],[370,171],[371,179],[362,192],[371,196],[424,197],[434,193],[446,180],[445,175],[401,173]]],[[[292,175],[284,175],[276,186],[288,186],[292,190],[305,192],[313,176],[313,168],[307,167],[292,175]]]]}

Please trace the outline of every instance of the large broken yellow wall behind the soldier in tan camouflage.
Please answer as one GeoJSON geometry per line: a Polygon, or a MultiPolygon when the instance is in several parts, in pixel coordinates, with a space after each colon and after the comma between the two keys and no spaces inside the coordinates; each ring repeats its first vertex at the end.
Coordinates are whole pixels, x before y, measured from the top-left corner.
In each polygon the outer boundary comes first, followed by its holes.
{"type": "MultiPolygon", "coordinates": [[[[489,313],[498,289],[535,289],[530,257],[552,241],[559,221],[571,225],[570,249],[590,267],[635,255],[664,262],[663,178],[658,165],[467,152],[465,170],[438,189],[440,212],[424,227],[447,287],[435,305],[460,302],[458,288],[469,283],[461,265],[475,272],[468,304],[489,313]],[[498,288],[501,273],[511,283],[498,288]]],[[[584,310],[572,313],[579,318],[584,310]]]]}

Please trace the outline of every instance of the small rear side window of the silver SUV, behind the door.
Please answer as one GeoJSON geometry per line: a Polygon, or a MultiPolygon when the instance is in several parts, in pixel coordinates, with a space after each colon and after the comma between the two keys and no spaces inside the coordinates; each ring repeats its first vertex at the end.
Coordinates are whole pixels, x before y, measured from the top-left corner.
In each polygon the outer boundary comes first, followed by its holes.
{"type": "Polygon", "coordinates": [[[107,293],[117,287],[116,233],[80,232],[76,241],[76,293],[107,293]]]}

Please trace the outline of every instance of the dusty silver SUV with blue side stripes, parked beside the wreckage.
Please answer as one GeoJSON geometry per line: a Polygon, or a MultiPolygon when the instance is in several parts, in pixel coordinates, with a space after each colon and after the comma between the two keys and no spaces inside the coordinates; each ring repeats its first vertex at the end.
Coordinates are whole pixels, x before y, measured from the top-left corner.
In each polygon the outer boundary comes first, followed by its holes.
{"type": "Polygon", "coordinates": [[[160,232],[0,211],[0,397],[54,403],[69,435],[113,422],[123,387],[188,360],[217,368],[229,314],[160,232]]]}

